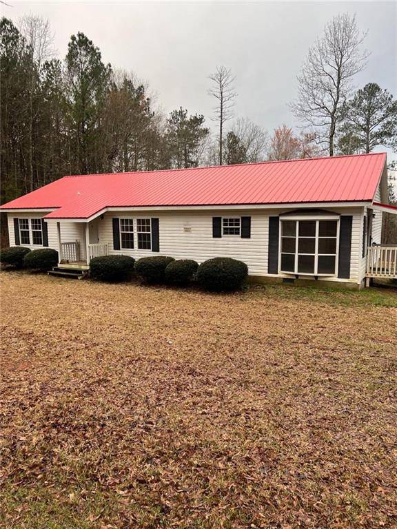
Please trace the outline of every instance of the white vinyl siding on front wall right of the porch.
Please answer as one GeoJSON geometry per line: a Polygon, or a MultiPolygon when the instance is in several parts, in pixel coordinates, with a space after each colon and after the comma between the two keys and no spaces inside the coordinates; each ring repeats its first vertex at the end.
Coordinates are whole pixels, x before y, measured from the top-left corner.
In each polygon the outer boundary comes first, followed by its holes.
{"type": "MultiPolygon", "coordinates": [[[[349,280],[342,282],[360,282],[361,264],[361,220],[363,208],[327,208],[328,211],[343,215],[352,215],[352,256],[350,261],[349,280]]],[[[131,218],[132,213],[128,211],[107,212],[103,220],[99,221],[99,240],[107,242],[110,253],[140,258],[145,256],[172,256],[176,259],[194,259],[203,262],[214,257],[232,257],[242,260],[248,266],[251,276],[267,275],[269,216],[278,216],[283,210],[238,211],[244,216],[251,216],[251,238],[244,239],[239,236],[212,237],[212,217],[220,216],[235,218],[233,210],[210,210],[210,211],[152,211],[152,217],[159,218],[160,251],[134,249],[113,249],[112,218],[131,218]]],[[[147,212],[146,212],[147,213],[147,212]]],[[[139,214],[134,212],[139,218],[139,214]]],[[[280,274],[283,277],[283,274],[280,274]]],[[[285,275],[285,277],[290,277],[285,275]]],[[[323,279],[323,278],[322,278],[323,279]]],[[[327,277],[324,280],[338,280],[336,277],[327,277]]]]}

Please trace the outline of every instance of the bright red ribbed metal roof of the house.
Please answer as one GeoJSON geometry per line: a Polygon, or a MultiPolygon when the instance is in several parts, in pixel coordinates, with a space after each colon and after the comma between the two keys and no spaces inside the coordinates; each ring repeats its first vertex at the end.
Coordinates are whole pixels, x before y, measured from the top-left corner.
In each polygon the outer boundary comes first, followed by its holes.
{"type": "Polygon", "coordinates": [[[372,201],[385,163],[380,153],[65,176],[1,209],[56,208],[46,218],[89,218],[105,207],[372,201]]]}

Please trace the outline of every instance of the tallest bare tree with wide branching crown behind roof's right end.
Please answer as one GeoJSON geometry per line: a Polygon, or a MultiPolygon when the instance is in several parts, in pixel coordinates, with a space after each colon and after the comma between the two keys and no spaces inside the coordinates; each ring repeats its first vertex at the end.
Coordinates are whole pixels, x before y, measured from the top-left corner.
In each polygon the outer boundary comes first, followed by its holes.
{"type": "Polygon", "coordinates": [[[352,92],[352,78],[363,70],[368,53],[356,17],[339,14],[325,26],[323,37],[309,49],[298,76],[298,98],[290,106],[309,129],[316,129],[320,145],[334,156],[336,127],[343,119],[352,92]]]}

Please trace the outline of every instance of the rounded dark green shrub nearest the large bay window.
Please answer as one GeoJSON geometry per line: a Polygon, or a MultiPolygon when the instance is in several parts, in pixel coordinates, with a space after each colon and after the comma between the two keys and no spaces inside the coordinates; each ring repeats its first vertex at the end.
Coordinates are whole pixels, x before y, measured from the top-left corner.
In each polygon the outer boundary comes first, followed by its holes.
{"type": "Polygon", "coordinates": [[[216,257],[202,262],[197,271],[197,281],[208,290],[236,290],[248,275],[245,262],[230,257],[216,257]]]}

